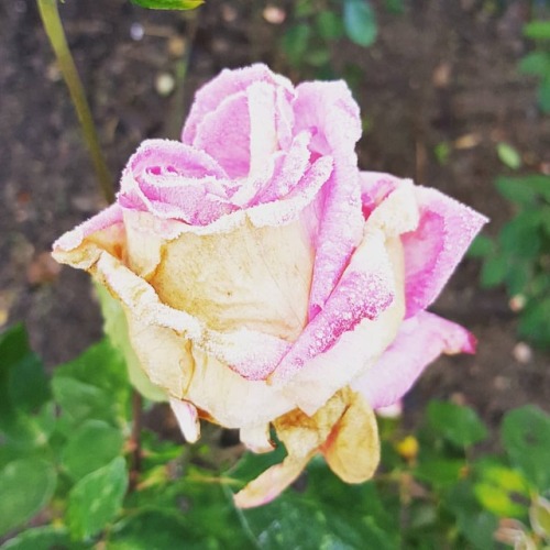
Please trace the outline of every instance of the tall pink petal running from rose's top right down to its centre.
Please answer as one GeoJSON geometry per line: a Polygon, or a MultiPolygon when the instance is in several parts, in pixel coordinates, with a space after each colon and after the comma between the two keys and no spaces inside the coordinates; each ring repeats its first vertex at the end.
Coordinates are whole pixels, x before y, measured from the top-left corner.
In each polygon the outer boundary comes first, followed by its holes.
{"type": "Polygon", "coordinates": [[[323,188],[309,316],[324,306],[361,240],[363,216],[355,143],[361,136],[359,107],[344,82],[305,82],[294,103],[296,131],[312,134],[311,151],[334,158],[334,172],[323,188]]]}

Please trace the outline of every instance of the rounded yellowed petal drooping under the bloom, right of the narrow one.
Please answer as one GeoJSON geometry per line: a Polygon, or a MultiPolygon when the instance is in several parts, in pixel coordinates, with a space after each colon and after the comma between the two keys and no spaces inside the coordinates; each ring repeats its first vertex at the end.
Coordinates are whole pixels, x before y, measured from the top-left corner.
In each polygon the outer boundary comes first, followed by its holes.
{"type": "Polygon", "coordinates": [[[370,480],[380,463],[376,418],[369,403],[348,392],[348,407],[322,446],[330,469],[345,483],[370,480]]]}

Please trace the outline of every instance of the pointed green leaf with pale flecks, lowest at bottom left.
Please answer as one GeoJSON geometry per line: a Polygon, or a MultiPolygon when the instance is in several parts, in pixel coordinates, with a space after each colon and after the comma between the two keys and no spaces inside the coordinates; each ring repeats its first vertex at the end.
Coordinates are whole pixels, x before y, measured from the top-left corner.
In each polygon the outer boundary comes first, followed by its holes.
{"type": "Polygon", "coordinates": [[[67,524],[73,537],[86,540],[105,529],[119,514],[127,488],[122,457],[82,477],[68,496],[67,524]]]}

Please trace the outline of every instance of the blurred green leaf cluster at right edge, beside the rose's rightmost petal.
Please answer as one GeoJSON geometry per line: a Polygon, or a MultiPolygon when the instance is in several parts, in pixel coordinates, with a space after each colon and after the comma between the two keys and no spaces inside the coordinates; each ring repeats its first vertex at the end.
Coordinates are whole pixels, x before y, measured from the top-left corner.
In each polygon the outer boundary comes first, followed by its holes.
{"type": "Polygon", "coordinates": [[[549,349],[550,177],[502,176],[495,185],[516,213],[496,240],[479,237],[470,255],[483,260],[482,286],[505,285],[510,298],[519,304],[520,336],[549,349]]]}

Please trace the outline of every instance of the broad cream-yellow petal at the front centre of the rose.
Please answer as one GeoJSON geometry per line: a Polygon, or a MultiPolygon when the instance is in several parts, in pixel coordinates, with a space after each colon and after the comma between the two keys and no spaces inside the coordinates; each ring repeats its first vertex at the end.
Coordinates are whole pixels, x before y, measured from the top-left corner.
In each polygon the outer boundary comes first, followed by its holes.
{"type": "MultiPolygon", "coordinates": [[[[131,232],[128,238],[132,251],[131,232]]],[[[294,341],[307,320],[312,266],[301,222],[262,229],[246,222],[229,233],[184,233],[166,242],[148,280],[164,304],[213,330],[250,329],[294,341]]]]}

